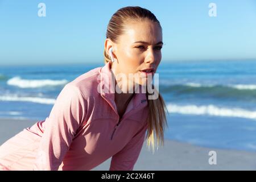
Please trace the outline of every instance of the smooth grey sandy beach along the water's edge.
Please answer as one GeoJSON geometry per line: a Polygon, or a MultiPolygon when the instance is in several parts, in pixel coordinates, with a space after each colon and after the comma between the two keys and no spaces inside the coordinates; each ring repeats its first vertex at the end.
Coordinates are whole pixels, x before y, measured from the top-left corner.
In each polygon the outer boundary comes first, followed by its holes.
{"type": "MultiPolygon", "coordinates": [[[[35,122],[1,118],[0,144],[35,122]]],[[[109,170],[110,160],[111,158],[92,170],[109,170]]],[[[164,147],[152,154],[144,142],[134,170],[256,170],[256,152],[205,148],[165,140],[164,147]],[[216,152],[217,164],[209,164],[209,151],[216,152]]]]}

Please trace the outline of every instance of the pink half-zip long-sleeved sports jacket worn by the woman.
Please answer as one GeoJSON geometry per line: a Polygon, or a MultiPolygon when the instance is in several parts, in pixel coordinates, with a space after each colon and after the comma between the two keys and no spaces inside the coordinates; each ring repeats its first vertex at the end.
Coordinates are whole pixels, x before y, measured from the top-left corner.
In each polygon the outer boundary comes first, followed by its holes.
{"type": "Polygon", "coordinates": [[[117,125],[113,78],[107,63],[65,85],[45,121],[2,144],[0,169],[90,170],[112,157],[109,170],[133,170],[147,130],[146,94],[134,94],[117,125]]]}

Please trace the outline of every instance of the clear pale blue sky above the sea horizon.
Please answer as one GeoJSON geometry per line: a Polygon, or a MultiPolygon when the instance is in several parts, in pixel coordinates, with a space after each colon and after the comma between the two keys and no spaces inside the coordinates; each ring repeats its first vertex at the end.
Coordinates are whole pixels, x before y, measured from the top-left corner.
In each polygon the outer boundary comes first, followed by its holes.
{"type": "Polygon", "coordinates": [[[103,63],[109,19],[125,6],[159,19],[162,61],[256,59],[255,0],[0,0],[0,64],[103,63]],[[40,2],[46,17],[38,16],[40,2]],[[217,16],[209,16],[209,3],[217,16]]]}

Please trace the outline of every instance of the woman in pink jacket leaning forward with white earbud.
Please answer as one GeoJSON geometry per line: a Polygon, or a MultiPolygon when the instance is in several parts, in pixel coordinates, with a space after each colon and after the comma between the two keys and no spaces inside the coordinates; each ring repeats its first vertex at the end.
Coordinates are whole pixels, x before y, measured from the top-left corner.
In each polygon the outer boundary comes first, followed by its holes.
{"type": "Polygon", "coordinates": [[[162,59],[162,44],[154,14],[141,7],[119,9],[106,32],[105,66],[65,85],[45,121],[2,144],[0,168],[90,170],[112,157],[110,170],[133,170],[146,131],[153,151],[163,144],[164,101],[160,95],[148,99],[147,88],[142,92],[162,59]]]}

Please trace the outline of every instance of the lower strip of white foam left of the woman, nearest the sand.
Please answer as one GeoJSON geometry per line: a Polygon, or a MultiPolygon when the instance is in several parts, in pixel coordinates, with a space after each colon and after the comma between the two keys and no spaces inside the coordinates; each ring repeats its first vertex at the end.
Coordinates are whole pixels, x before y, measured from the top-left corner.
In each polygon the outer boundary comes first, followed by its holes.
{"type": "Polygon", "coordinates": [[[42,97],[20,97],[16,95],[0,96],[0,101],[22,101],[22,102],[35,102],[39,104],[55,104],[53,98],[42,98],[42,97]]]}

